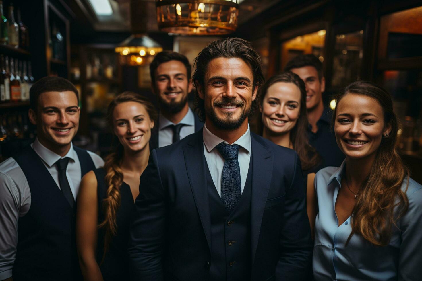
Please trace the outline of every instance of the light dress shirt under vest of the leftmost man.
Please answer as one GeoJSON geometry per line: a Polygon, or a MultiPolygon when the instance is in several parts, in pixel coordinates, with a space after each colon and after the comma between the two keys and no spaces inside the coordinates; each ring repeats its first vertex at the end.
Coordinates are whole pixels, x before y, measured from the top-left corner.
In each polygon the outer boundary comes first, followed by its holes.
{"type": "MultiPolygon", "coordinates": [[[[31,146],[40,156],[59,188],[59,174],[54,163],[60,158],[70,158],[66,176],[73,197],[76,198],[81,183],[81,165],[78,155],[73,150],[73,145],[63,157],[41,145],[38,139],[35,139],[31,146]]],[[[100,156],[90,151],[88,153],[96,168],[104,165],[100,156]]],[[[0,164],[0,280],[12,276],[18,244],[18,220],[29,211],[30,206],[31,192],[25,174],[14,158],[8,158],[0,164]]]]}

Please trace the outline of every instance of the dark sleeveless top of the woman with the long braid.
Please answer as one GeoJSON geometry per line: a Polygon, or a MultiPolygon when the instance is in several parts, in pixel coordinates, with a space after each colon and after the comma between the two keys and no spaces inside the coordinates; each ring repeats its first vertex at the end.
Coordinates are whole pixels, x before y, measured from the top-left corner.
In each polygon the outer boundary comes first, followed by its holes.
{"type": "MultiPolygon", "coordinates": [[[[103,168],[94,170],[97,177],[97,197],[98,197],[98,224],[104,221],[103,199],[106,198],[107,184],[105,182],[106,171],[103,168]]],[[[129,280],[129,258],[127,246],[130,237],[130,216],[135,207],[130,186],[122,182],[120,186],[120,207],[116,212],[117,231],[116,236],[111,239],[108,251],[103,260],[104,237],[106,230],[98,229],[97,238],[97,262],[103,274],[104,281],[129,280]]]]}

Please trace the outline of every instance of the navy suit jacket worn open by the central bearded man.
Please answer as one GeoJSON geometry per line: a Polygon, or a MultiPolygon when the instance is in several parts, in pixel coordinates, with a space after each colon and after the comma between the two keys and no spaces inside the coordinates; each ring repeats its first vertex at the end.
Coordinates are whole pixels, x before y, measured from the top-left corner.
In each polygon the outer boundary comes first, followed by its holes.
{"type": "MultiPolygon", "coordinates": [[[[251,134],[251,280],[306,280],[312,241],[298,155],[251,134]]],[[[153,150],[129,246],[133,280],[208,280],[211,217],[202,130],[153,150]]]]}

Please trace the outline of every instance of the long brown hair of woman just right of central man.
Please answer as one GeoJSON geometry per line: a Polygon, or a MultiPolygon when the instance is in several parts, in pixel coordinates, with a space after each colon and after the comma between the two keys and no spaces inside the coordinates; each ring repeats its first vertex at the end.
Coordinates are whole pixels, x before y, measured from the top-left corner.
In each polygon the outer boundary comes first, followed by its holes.
{"type": "MultiPolygon", "coordinates": [[[[268,79],[264,85],[260,88],[259,102],[262,108],[265,95],[267,94],[268,88],[275,83],[284,82],[292,83],[299,88],[300,91],[300,110],[299,118],[296,125],[290,131],[290,142],[293,144],[293,149],[298,153],[300,162],[302,163],[302,169],[304,171],[310,170],[319,164],[320,157],[317,150],[309,144],[308,138],[308,117],[306,113],[306,87],[305,83],[298,75],[293,72],[287,71],[278,75],[272,76],[268,79]]],[[[262,127],[260,129],[261,135],[264,129],[262,123],[262,114],[260,115],[260,122],[262,127]]]]}

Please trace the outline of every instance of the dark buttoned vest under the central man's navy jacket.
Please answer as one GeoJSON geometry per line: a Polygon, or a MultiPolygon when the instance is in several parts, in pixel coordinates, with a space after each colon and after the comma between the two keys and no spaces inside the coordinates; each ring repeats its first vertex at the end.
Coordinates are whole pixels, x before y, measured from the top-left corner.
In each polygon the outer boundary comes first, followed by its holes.
{"type": "Polygon", "coordinates": [[[242,196],[229,214],[221,201],[208,166],[207,186],[211,214],[210,280],[251,278],[252,157],[242,196]]]}

